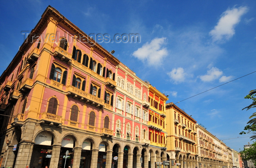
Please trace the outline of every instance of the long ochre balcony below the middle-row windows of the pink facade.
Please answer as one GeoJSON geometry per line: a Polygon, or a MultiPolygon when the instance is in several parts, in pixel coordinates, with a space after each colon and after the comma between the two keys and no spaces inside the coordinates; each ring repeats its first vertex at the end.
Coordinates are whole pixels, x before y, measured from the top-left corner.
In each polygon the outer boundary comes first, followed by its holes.
{"type": "Polygon", "coordinates": [[[80,101],[84,101],[85,103],[89,103],[94,105],[95,107],[103,108],[104,107],[104,100],[100,99],[99,97],[93,96],[89,93],[86,93],[74,86],[69,85],[67,87],[67,96],[71,96],[75,99],[79,99],[80,101]]]}

